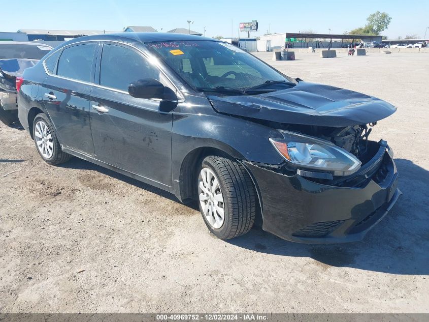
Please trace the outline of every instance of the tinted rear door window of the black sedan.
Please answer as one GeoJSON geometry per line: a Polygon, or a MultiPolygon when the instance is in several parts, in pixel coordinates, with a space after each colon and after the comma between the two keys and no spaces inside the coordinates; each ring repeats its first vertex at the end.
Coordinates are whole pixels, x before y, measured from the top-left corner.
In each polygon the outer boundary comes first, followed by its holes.
{"type": "Polygon", "coordinates": [[[95,44],[65,48],[58,61],[57,75],[90,81],[95,44]]]}

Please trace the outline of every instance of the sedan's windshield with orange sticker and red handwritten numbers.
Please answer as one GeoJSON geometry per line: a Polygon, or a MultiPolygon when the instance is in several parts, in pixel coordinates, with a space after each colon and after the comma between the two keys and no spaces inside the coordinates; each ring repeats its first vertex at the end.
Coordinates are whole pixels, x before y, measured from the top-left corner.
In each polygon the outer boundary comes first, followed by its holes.
{"type": "Polygon", "coordinates": [[[264,84],[295,84],[251,54],[226,42],[154,42],[147,46],[197,90],[246,90],[264,84]]]}

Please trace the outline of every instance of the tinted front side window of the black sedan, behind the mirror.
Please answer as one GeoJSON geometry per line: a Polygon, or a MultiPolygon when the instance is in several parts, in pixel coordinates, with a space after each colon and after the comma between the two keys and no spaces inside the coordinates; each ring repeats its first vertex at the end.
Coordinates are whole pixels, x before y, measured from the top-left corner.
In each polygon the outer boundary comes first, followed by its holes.
{"type": "Polygon", "coordinates": [[[117,45],[103,45],[100,85],[128,92],[130,83],[143,78],[163,82],[159,70],[134,50],[117,45]]]}

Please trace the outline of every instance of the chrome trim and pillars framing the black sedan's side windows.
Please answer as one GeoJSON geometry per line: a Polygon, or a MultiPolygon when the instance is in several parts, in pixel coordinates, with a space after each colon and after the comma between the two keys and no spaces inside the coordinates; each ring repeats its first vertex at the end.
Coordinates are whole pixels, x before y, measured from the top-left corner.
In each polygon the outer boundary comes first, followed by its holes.
{"type": "MultiPolygon", "coordinates": [[[[99,74],[98,76],[100,76],[100,66],[98,66],[98,65],[100,65],[100,62],[101,62],[100,50],[102,49],[103,44],[105,44],[105,43],[114,43],[114,44],[118,44],[118,45],[122,45],[122,46],[133,48],[135,51],[137,51],[137,53],[139,53],[140,55],[142,55],[146,60],[149,60],[149,58],[151,57],[150,55],[148,55],[146,52],[144,52],[140,48],[138,48],[136,46],[133,46],[133,45],[130,45],[130,44],[127,44],[127,43],[124,43],[122,41],[116,41],[116,40],[82,40],[82,41],[79,41],[79,42],[74,42],[74,43],[69,44],[69,45],[65,45],[64,47],[61,47],[58,50],[55,50],[55,51],[51,52],[43,60],[43,64],[42,64],[43,68],[45,69],[46,74],[48,74],[49,76],[53,76],[53,77],[57,77],[57,78],[62,78],[62,79],[66,79],[66,80],[72,80],[72,81],[75,81],[75,82],[78,82],[78,83],[82,83],[82,84],[86,84],[86,85],[91,85],[91,86],[96,86],[96,87],[100,87],[100,88],[105,89],[105,90],[111,90],[111,91],[114,91],[114,92],[117,92],[117,93],[122,93],[122,94],[129,95],[128,92],[124,92],[124,91],[112,89],[111,87],[105,87],[105,86],[102,86],[100,84],[96,84],[95,83],[95,76],[96,76],[95,74],[97,73],[97,69],[98,69],[98,74],[99,74]],[[59,75],[52,74],[51,72],[49,72],[49,70],[47,69],[47,67],[45,65],[45,61],[52,54],[54,54],[58,50],[63,51],[65,48],[70,48],[70,47],[82,45],[82,44],[85,44],[85,43],[95,43],[98,46],[98,48],[95,48],[94,57],[93,57],[94,60],[95,60],[95,65],[93,65],[94,66],[94,73],[92,73],[92,75],[91,75],[91,80],[92,80],[92,76],[94,76],[93,82],[87,82],[87,81],[83,81],[83,80],[79,80],[79,79],[74,79],[74,78],[59,76],[59,75]],[[98,59],[98,57],[100,57],[100,60],[98,59]]],[[[60,53],[59,57],[61,57],[61,54],[62,54],[62,52],[60,53]]],[[[59,60],[59,57],[58,57],[58,60],[59,60]]],[[[155,57],[155,58],[158,59],[157,57],[155,57]]],[[[58,62],[57,62],[57,66],[58,66],[58,62]]],[[[183,103],[185,101],[185,96],[179,90],[179,88],[176,86],[176,84],[171,80],[171,78],[167,75],[167,73],[162,70],[162,68],[159,68],[158,64],[154,64],[153,66],[155,66],[155,68],[157,68],[168,79],[168,81],[170,82],[170,84],[176,89],[176,93],[178,94],[178,100],[177,100],[178,103],[183,103]]],[[[151,99],[151,100],[162,101],[162,99],[151,99]]]]}

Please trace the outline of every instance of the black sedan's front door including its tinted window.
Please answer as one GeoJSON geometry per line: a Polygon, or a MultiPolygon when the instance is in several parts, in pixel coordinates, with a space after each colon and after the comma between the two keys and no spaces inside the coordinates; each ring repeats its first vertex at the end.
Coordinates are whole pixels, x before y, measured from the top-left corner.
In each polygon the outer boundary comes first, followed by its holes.
{"type": "Polygon", "coordinates": [[[96,158],[171,186],[172,112],[160,100],[128,94],[136,80],[167,80],[133,48],[105,43],[101,51],[90,111],[96,158]]]}

